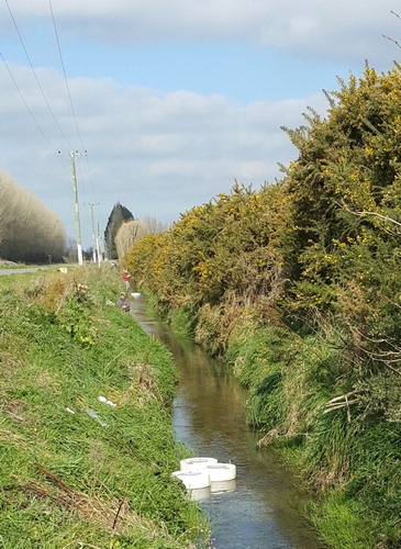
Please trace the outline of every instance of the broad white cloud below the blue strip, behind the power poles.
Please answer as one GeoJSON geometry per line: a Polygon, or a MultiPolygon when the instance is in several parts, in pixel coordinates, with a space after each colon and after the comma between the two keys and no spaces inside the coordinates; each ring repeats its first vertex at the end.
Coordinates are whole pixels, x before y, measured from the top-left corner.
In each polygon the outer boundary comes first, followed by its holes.
{"type": "MultiPolygon", "coordinates": [[[[2,171],[9,172],[64,221],[74,236],[70,186],[70,143],[77,144],[62,75],[43,69],[46,96],[68,143],[59,134],[43,99],[34,92],[27,68],[11,66],[29,98],[32,112],[52,146],[38,132],[9,79],[0,70],[2,171]],[[11,105],[11,107],[10,107],[11,105]],[[57,149],[66,156],[57,155],[57,149]]],[[[179,213],[227,192],[234,179],[256,188],[279,176],[277,163],[293,159],[296,150],[281,124],[297,126],[308,104],[320,108],[321,97],[241,105],[222,96],[177,91],[160,94],[141,87],[121,87],[109,79],[69,81],[88,157],[77,157],[81,220],[90,238],[88,203],[98,203],[104,227],[120,201],[135,216],[175,221],[179,213]]],[[[83,233],[83,229],[82,229],[83,233]]],[[[83,243],[90,242],[83,237],[83,243]]]]}

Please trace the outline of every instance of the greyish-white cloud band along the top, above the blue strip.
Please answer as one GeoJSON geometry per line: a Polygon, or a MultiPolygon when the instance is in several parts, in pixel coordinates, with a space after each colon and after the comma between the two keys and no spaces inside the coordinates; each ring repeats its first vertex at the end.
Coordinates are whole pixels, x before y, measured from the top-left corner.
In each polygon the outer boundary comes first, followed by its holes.
{"type": "MultiPolygon", "coordinates": [[[[49,21],[47,0],[12,5],[26,25],[49,21]]],[[[401,26],[394,0],[53,0],[53,10],[62,33],[110,44],[234,41],[372,61],[391,47],[381,34],[400,36],[401,26]]]]}

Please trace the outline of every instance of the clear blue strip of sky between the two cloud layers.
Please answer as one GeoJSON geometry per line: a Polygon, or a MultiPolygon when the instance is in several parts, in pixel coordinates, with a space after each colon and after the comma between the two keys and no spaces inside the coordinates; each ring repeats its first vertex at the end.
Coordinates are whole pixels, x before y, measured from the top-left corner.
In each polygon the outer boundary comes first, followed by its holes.
{"type": "Polygon", "coordinates": [[[120,46],[113,52],[105,46],[100,51],[88,46],[91,59],[99,58],[101,52],[102,66],[88,64],[87,57],[81,63],[76,59],[74,70],[94,78],[105,72],[119,82],[140,81],[165,93],[177,89],[221,93],[242,104],[313,93],[322,82],[335,86],[335,75],[343,69],[339,61],[327,64],[324,59],[235,42],[120,46]]]}

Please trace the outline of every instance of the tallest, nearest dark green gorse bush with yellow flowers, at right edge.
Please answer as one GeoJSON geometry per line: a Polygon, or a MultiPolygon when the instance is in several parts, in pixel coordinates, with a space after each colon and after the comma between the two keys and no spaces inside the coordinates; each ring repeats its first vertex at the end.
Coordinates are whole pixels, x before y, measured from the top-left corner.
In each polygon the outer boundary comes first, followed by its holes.
{"type": "Polygon", "coordinates": [[[400,290],[393,276],[400,267],[400,88],[398,67],[382,77],[367,68],[363,79],[352,77],[333,92],[327,120],[290,133],[300,149],[287,170],[296,228],[286,261],[292,306],[305,300],[331,306],[349,281],[368,303],[400,290]]]}

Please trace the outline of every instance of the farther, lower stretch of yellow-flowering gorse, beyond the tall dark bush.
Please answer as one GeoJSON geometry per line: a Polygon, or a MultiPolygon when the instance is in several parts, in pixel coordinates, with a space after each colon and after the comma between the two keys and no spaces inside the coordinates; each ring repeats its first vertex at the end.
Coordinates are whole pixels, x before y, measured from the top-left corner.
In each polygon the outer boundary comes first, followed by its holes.
{"type": "Polygon", "coordinates": [[[216,326],[218,348],[224,348],[238,312],[247,316],[256,306],[267,315],[281,293],[288,209],[279,184],[258,193],[236,184],[232,194],[181,215],[170,232],[136,243],[124,267],[158,295],[160,309],[189,307],[200,343],[216,326]],[[212,311],[215,318],[208,323],[212,311]]]}

